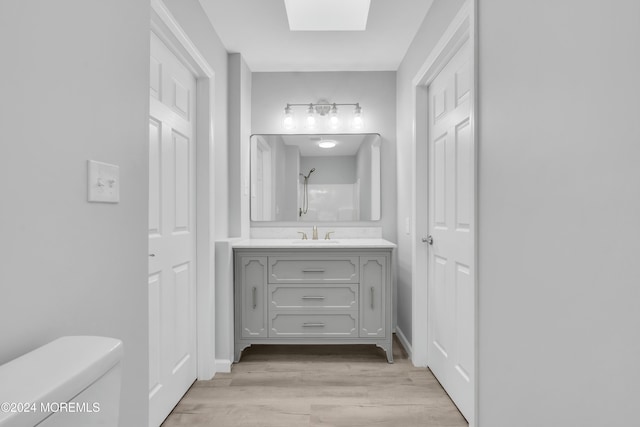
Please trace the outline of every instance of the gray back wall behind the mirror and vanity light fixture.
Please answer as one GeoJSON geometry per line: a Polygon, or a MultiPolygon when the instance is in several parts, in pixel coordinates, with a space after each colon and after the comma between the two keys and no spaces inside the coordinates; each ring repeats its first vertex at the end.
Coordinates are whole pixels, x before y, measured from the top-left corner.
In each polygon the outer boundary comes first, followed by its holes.
{"type": "MultiPolygon", "coordinates": [[[[393,71],[253,73],[251,131],[254,134],[285,133],[282,128],[282,118],[287,103],[317,102],[321,98],[338,103],[359,102],[363,108],[364,117],[362,132],[380,133],[382,137],[382,219],[344,224],[381,226],[383,236],[395,242],[397,230],[396,73],[393,71]]],[[[339,132],[348,130],[342,129],[339,132]]],[[[298,129],[297,132],[306,133],[303,129],[298,129]]],[[[251,225],[259,226],[265,223],[251,225]]]]}

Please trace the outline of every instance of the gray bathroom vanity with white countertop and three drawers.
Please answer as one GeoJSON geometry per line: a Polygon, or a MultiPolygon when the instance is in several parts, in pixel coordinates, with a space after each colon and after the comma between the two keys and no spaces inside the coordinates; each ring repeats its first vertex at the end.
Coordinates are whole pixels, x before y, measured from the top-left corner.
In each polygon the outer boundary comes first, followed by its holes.
{"type": "Polygon", "coordinates": [[[252,344],[375,344],[392,363],[394,247],[383,239],[234,244],[235,361],[252,344]]]}

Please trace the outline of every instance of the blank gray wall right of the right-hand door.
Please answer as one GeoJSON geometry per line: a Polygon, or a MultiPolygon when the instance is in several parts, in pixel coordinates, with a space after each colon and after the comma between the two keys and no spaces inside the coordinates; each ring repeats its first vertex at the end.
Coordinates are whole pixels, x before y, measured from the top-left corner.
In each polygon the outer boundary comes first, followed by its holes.
{"type": "Polygon", "coordinates": [[[479,0],[480,427],[638,424],[639,17],[479,0]]]}

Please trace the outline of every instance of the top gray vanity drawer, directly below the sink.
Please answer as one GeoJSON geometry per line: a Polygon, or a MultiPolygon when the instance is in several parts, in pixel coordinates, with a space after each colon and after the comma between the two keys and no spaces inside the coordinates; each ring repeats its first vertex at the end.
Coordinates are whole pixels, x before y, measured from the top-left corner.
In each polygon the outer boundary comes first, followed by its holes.
{"type": "Polygon", "coordinates": [[[358,257],[269,257],[269,283],[358,283],[358,257]]]}

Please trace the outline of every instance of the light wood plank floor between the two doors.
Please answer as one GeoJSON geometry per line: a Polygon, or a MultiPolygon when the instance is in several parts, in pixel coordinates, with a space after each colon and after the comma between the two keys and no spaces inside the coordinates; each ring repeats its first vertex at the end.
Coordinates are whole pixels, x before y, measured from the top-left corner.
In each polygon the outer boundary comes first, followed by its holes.
{"type": "Polygon", "coordinates": [[[229,374],[196,381],[162,427],[467,427],[431,372],[394,341],[253,346],[229,374]]]}

